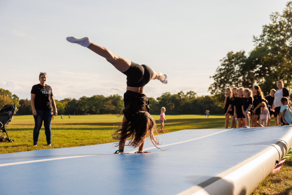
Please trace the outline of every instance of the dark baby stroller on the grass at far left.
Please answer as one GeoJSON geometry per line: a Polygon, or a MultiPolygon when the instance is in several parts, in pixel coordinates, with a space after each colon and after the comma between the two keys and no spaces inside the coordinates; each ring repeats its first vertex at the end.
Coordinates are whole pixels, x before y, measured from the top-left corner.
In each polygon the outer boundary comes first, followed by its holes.
{"type": "Polygon", "coordinates": [[[13,115],[16,111],[16,106],[12,104],[6,104],[0,110],[0,132],[6,133],[7,137],[0,135],[0,141],[8,141],[13,142],[14,139],[9,139],[8,132],[6,131],[6,127],[10,121],[13,120],[13,115]]]}

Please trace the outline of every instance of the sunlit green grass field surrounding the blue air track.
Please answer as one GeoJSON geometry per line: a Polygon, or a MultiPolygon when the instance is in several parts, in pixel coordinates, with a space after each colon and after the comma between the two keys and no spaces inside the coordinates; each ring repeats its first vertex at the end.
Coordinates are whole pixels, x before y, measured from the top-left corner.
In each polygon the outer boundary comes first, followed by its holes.
{"type": "MultiPolygon", "coordinates": [[[[159,115],[152,115],[159,119],[159,115]]],[[[166,115],[164,130],[168,132],[183,129],[224,128],[224,115],[166,115]]],[[[34,119],[32,115],[14,116],[7,131],[12,143],[0,144],[1,153],[13,153],[39,149],[65,148],[114,142],[111,133],[121,123],[122,117],[117,115],[67,115],[57,116],[52,120],[52,146],[46,145],[44,128],[42,127],[37,147],[33,145],[34,119]]],[[[160,124],[157,122],[157,129],[160,124]]],[[[271,121],[271,126],[274,120],[271,121]]],[[[253,192],[253,194],[289,194],[292,195],[292,158],[288,158],[277,174],[270,174],[253,192]]]]}

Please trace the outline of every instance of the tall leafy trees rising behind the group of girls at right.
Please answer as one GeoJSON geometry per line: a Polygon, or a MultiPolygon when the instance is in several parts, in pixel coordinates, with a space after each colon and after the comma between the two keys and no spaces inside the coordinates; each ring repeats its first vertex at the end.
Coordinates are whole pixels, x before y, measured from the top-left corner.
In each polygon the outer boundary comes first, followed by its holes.
{"type": "Polygon", "coordinates": [[[222,101],[227,87],[252,89],[259,85],[264,95],[277,89],[277,81],[292,87],[292,1],[282,13],[272,13],[270,23],[263,26],[259,36],[253,36],[254,49],[248,54],[244,50],[230,51],[221,59],[209,91],[222,101]]]}

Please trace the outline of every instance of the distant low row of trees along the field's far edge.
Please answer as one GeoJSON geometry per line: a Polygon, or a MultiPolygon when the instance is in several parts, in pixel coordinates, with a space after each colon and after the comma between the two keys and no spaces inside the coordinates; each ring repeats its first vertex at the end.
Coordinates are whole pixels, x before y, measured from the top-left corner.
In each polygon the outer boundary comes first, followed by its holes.
{"type": "MultiPolygon", "coordinates": [[[[160,114],[161,107],[165,107],[168,114],[204,114],[206,110],[210,110],[211,114],[223,113],[222,102],[216,104],[213,96],[197,96],[193,91],[186,93],[181,91],[177,94],[166,92],[156,99],[148,97],[148,100],[151,114],[160,114]]],[[[0,107],[7,103],[18,107],[18,115],[32,114],[30,100],[19,100],[15,94],[12,95],[8,90],[0,88],[0,107]]],[[[124,108],[123,97],[118,94],[107,97],[94,95],[82,96],[79,99],[65,98],[60,101],[55,100],[55,103],[58,113],[65,115],[119,114],[124,108]]]]}

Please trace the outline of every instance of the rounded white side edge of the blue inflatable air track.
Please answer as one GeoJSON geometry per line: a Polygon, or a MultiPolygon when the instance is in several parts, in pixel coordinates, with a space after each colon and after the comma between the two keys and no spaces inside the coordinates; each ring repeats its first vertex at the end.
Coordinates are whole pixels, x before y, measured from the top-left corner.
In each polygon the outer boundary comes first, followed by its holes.
{"type": "MultiPolygon", "coordinates": [[[[292,129],[281,139],[281,142],[287,146],[288,150],[290,149],[292,146],[292,129]]],[[[206,187],[203,188],[197,185],[179,194],[251,194],[253,190],[258,187],[258,184],[270,174],[276,165],[276,161],[280,162],[280,160],[287,153],[286,150],[282,153],[281,147],[277,144],[272,145],[273,146],[270,146],[268,149],[253,156],[252,158],[249,158],[233,168],[216,175],[215,177],[221,179],[218,179],[215,182],[211,181],[206,187]]]]}

